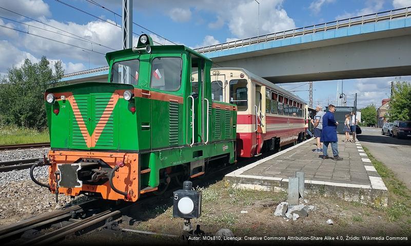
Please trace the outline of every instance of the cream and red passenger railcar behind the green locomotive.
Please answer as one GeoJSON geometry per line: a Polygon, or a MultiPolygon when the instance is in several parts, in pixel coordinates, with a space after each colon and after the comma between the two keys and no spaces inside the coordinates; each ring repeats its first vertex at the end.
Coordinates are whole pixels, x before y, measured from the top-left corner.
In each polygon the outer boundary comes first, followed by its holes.
{"type": "Polygon", "coordinates": [[[305,137],[306,104],[297,95],[242,68],[211,69],[211,81],[213,100],[238,106],[239,156],[278,150],[305,137]]]}

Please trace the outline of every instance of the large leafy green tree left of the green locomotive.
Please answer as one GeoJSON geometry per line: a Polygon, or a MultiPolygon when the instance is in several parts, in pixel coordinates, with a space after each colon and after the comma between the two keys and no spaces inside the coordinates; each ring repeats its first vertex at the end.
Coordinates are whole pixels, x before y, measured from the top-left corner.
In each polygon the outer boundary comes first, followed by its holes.
{"type": "Polygon", "coordinates": [[[0,120],[37,130],[47,127],[44,92],[63,75],[61,61],[54,64],[53,72],[45,56],[38,63],[25,59],[22,67],[13,66],[0,84],[0,120]]]}

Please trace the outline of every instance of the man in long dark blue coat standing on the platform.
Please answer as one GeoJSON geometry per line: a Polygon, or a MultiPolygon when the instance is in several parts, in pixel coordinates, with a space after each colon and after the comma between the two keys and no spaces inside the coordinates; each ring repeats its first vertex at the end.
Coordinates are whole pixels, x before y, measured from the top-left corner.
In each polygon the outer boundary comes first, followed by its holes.
{"type": "Polygon", "coordinates": [[[338,155],[338,122],[334,119],[335,111],[336,107],[334,105],[328,105],[328,112],[323,116],[323,130],[321,132],[320,141],[323,142],[323,159],[329,159],[328,145],[331,144],[334,160],[343,160],[343,158],[338,155]]]}

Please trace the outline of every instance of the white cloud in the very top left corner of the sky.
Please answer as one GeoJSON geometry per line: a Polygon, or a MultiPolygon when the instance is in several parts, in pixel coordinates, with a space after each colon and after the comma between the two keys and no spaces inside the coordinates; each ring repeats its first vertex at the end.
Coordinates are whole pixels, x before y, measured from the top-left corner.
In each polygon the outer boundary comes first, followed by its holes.
{"type": "MultiPolygon", "coordinates": [[[[30,16],[32,18],[51,15],[48,4],[44,3],[43,0],[0,0],[0,5],[5,9],[30,16]]],[[[8,17],[16,16],[15,14],[4,9],[0,9],[0,14],[8,17]]],[[[23,17],[19,17],[19,19],[23,19],[23,17]]]]}

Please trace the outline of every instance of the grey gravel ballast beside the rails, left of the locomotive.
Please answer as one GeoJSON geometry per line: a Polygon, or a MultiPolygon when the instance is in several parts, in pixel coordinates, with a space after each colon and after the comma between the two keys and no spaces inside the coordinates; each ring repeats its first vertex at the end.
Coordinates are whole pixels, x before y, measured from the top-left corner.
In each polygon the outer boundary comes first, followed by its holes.
{"type": "MultiPolygon", "coordinates": [[[[41,157],[48,151],[48,148],[0,151],[0,161],[41,157]]],[[[37,180],[46,183],[48,167],[36,168],[34,176],[37,180]]],[[[0,173],[0,177],[0,225],[89,199],[85,196],[73,199],[59,195],[56,203],[54,194],[51,194],[47,188],[37,186],[30,179],[29,169],[3,172],[0,173]]]]}

